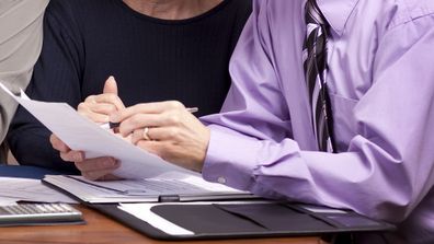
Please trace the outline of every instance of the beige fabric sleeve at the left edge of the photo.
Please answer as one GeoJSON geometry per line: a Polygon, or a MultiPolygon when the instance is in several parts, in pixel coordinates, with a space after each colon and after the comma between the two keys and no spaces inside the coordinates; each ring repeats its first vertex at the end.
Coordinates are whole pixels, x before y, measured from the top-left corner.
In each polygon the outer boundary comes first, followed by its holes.
{"type": "MultiPolygon", "coordinates": [[[[0,0],[0,81],[25,89],[42,48],[44,10],[49,0],[0,0]]],[[[0,142],[18,104],[0,91],[0,142]]],[[[0,162],[4,155],[0,150],[0,162]]]]}

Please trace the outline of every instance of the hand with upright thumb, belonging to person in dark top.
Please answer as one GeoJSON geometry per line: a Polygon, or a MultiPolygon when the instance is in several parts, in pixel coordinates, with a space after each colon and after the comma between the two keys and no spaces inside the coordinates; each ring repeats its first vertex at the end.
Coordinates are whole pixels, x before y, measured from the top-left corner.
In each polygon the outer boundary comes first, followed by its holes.
{"type": "Polygon", "coordinates": [[[104,84],[103,93],[90,95],[84,102],[78,105],[78,113],[90,120],[103,124],[108,123],[108,116],[124,109],[124,103],[117,96],[117,84],[113,77],[110,77],[104,84]]]}

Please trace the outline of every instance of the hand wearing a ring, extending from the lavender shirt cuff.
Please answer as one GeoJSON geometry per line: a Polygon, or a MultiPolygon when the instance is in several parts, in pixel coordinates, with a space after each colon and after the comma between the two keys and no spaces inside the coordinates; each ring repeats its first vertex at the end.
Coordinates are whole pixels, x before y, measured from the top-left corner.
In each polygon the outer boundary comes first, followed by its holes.
{"type": "Polygon", "coordinates": [[[180,166],[202,171],[209,129],[180,102],[138,104],[114,113],[119,133],[132,142],[180,166]]]}

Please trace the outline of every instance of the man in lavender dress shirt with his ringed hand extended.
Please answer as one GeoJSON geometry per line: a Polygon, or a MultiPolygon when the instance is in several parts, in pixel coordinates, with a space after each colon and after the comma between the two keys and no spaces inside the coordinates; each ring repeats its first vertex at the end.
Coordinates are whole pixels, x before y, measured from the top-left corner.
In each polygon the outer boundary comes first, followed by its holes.
{"type": "Polygon", "coordinates": [[[336,153],[319,151],[313,136],[302,67],[306,0],[254,1],[231,60],[231,90],[221,113],[203,118],[208,127],[176,102],[139,104],[111,119],[138,147],[210,182],[399,226],[359,242],[434,243],[434,1],[317,3],[331,25],[336,153]]]}

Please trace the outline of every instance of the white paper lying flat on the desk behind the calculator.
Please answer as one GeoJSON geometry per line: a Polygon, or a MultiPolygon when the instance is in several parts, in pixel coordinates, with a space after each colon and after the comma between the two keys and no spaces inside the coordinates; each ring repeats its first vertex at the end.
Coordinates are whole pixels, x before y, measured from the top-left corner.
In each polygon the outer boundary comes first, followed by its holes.
{"type": "Polygon", "coordinates": [[[0,177],[0,205],[16,201],[77,204],[67,195],[45,186],[39,179],[0,177]]]}

